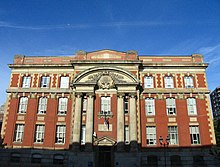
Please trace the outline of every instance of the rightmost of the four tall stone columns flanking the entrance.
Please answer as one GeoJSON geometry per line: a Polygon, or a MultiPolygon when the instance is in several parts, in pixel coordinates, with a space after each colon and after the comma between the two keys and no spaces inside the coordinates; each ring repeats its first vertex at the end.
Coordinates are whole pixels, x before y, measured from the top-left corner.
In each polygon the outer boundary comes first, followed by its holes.
{"type": "Polygon", "coordinates": [[[136,113],[136,94],[130,94],[129,99],[130,109],[130,146],[131,151],[137,151],[137,113],[136,113]]]}

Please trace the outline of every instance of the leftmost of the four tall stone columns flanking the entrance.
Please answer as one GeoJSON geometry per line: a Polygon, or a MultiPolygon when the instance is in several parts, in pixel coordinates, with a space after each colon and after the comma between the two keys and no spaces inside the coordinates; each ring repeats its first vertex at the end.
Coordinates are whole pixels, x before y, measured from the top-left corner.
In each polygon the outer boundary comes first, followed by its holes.
{"type": "Polygon", "coordinates": [[[80,146],[80,132],[81,132],[81,111],[82,111],[82,94],[76,95],[75,112],[73,123],[73,149],[78,150],[80,146]]]}

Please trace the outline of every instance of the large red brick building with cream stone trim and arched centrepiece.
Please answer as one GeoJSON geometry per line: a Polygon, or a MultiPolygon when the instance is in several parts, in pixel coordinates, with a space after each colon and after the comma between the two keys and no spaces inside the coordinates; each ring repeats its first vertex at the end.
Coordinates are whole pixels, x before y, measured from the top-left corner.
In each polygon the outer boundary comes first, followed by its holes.
{"type": "MultiPolygon", "coordinates": [[[[5,147],[69,150],[85,160],[83,166],[163,164],[157,158],[163,155],[158,153],[161,138],[173,150],[211,147],[215,134],[207,66],[199,54],[139,56],[136,51],[100,50],[74,56],[16,55],[9,64],[1,131],[5,147]],[[144,151],[148,149],[154,150],[152,155],[144,151]]],[[[186,155],[173,152],[169,157],[177,157],[165,163],[186,155]]]]}

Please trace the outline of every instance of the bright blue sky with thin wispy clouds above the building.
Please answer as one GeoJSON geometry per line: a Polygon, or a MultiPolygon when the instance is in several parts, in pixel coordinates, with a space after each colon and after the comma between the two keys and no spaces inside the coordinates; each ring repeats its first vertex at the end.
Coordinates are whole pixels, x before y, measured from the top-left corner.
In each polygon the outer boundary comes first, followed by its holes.
{"type": "Polygon", "coordinates": [[[220,85],[220,0],[1,0],[0,104],[15,54],[137,50],[201,53],[212,91],[220,85]]]}

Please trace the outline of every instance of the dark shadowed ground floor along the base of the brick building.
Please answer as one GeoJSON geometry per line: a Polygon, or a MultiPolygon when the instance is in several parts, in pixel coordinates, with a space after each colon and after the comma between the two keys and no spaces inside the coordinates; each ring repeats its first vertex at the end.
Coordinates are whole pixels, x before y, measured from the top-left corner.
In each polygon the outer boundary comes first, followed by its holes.
{"type": "Polygon", "coordinates": [[[92,151],[1,149],[1,166],[8,167],[218,167],[220,156],[214,148],[148,148],[118,152],[99,146],[92,151]]]}

